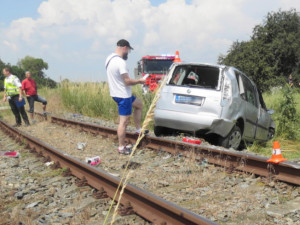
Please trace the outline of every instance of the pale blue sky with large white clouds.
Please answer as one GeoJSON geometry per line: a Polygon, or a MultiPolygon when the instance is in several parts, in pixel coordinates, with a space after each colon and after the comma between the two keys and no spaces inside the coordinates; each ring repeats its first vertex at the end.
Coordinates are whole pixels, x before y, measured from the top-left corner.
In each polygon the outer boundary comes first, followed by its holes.
{"type": "Polygon", "coordinates": [[[59,81],[106,80],[104,61],[118,39],[146,54],[180,51],[184,61],[216,63],[233,41],[248,40],[268,12],[298,9],[298,0],[0,0],[0,58],[48,62],[59,81]]]}

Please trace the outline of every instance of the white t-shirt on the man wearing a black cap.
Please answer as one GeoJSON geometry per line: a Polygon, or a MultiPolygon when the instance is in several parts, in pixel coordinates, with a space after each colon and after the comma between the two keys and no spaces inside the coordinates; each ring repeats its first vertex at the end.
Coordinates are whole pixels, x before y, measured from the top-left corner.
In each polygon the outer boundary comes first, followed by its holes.
{"type": "Polygon", "coordinates": [[[125,60],[118,56],[118,54],[112,53],[106,58],[105,66],[107,66],[106,73],[110,96],[117,98],[130,98],[132,95],[131,86],[127,86],[121,76],[125,73],[128,74],[125,60]],[[107,66],[108,62],[109,64],[107,66]]]}

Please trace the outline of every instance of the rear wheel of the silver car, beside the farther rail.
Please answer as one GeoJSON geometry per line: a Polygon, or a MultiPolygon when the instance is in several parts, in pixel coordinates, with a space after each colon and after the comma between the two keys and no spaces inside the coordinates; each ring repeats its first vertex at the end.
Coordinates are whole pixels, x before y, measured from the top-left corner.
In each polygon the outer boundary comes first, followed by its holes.
{"type": "Polygon", "coordinates": [[[233,148],[239,150],[242,146],[242,131],[238,126],[234,126],[229,134],[220,138],[220,145],[224,148],[233,148]]]}

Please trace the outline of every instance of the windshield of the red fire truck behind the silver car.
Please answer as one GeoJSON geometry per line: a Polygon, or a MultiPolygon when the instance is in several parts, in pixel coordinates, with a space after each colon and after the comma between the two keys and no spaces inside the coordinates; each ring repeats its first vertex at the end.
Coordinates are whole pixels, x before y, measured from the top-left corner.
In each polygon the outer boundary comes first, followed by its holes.
{"type": "Polygon", "coordinates": [[[143,63],[144,73],[165,74],[172,65],[173,60],[144,59],[143,63]]]}

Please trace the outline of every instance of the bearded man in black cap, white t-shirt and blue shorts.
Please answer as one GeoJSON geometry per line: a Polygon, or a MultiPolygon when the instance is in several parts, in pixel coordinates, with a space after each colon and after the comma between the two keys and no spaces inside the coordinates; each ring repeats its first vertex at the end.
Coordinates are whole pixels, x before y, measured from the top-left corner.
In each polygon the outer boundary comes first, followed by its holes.
{"type": "Polygon", "coordinates": [[[129,124],[129,117],[134,108],[133,118],[136,126],[136,132],[141,131],[141,117],[143,103],[131,93],[131,86],[144,84],[144,79],[133,80],[129,76],[129,71],[125,60],[128,53],[133,48],[129,42],[121,39],[117,42],[115,53],[110,54],[105,62],[110,96],[118,104],[120,123],[118,126],[119,153],[130,154],[131,148],[125,144],[126,128],[129,124]]]}

